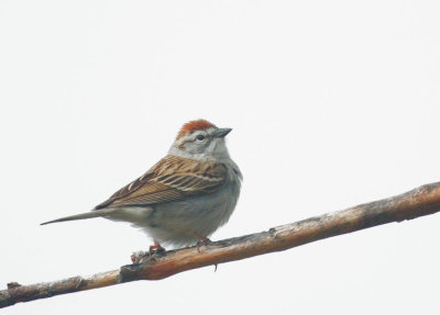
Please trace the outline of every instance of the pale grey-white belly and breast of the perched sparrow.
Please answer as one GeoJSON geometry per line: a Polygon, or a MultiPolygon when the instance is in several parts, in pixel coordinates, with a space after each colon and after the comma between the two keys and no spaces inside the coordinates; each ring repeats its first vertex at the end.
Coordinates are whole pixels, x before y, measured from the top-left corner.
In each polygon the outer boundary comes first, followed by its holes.
{"type": "Polygon", "coordinates": [[[217,192],[148,207],[114,209],[106,217],[130,222],[161,245],[188,246],[226,224],[239,195],[240,179],[231,169],[230,180],[217,192]]]}

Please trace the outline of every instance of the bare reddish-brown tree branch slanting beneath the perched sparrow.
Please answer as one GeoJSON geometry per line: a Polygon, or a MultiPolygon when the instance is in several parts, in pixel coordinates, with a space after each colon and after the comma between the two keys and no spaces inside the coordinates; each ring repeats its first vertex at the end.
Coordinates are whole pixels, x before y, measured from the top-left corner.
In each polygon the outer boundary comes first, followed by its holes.
{"type": "Polygon", "coordinates": [[[0,307],[129,281],[160,280],[191,269],[286,250],[327,237],[439,211],[440,182],[437,182],[393,198],[273,227],[267,232],[215,241],[199,248],[196,246],[154,255],[141,263],[122,266],[118,270],[90,277],[78,275],[31,285],[12,282],[8,284],[8,290],[0,291],[0,307]]]}

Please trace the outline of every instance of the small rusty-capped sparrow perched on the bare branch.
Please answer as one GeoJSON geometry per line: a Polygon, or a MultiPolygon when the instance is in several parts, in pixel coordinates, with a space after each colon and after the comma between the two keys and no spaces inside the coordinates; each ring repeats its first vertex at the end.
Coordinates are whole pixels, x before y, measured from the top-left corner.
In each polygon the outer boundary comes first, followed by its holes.
{"type": "Polygon", "coordinates": [[[189,121],[167,155],[140,178],[87,213],[41,225],[103,217],[141,228],[154,241],[151,250],[209,243],[233,213],[243,180],[226,145],[231,131],[189,121]]]}

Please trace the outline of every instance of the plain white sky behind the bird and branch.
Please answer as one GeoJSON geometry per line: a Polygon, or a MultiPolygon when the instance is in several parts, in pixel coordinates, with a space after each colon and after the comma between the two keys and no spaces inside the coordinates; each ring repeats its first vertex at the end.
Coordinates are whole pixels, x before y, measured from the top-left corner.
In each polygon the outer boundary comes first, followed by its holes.
{"type": "MultiPolygon", "coordinates": [[[[0,285],[116,269],[151,240],[81,213],[188,120],[244,175],[212,239],[440,181],[438,1],[1,1],[0,285]]],[[[440,215],[2,314],[438,314],[440,215]]]]}

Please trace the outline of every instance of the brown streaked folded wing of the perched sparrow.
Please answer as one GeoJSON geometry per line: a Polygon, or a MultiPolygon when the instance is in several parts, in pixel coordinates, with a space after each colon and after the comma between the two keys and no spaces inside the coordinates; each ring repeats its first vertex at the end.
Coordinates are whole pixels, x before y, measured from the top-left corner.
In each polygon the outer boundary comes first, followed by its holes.
{"type": "Polygon", "coordinates": [[[182,200],[189,195],[211,193],[223,184],[226,178],[227,168],[222,164],[166,156],[142,177],[97,205],[95,210],[151,205],[182,200]]]}

